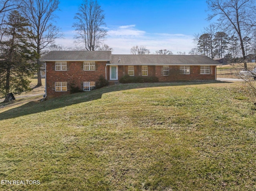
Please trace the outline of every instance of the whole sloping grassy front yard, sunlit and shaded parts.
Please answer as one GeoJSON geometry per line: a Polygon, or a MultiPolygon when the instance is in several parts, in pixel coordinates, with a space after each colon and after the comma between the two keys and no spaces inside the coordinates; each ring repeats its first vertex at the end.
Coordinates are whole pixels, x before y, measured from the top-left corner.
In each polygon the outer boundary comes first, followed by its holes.
{"type": "Polygon", "coordinates": [[[0,110],[0,190],[256,190],[236,83],[116,85],[0,110]],[[4,183],[4,182],[3,182],[4,183]]]}

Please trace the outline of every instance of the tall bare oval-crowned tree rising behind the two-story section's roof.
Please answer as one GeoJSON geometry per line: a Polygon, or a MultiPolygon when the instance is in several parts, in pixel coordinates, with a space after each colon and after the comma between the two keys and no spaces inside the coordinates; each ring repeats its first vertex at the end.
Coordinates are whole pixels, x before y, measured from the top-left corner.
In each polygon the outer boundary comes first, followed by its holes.
{"type": "Polygon", "coordinates": [[[107,35],[107,30],[102,28],[106,26],[104,22],[105,16],[97,0],[84,0],[83,2],[74,17],[74,19],[78,20],[73,24],[77,33],[75,43],[82,43],[86,50],[94,51],[107,35]]]}

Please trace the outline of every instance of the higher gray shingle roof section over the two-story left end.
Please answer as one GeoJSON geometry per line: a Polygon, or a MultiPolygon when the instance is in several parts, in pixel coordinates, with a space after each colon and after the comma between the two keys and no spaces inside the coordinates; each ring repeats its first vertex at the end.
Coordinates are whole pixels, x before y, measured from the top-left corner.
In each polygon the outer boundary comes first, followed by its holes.
{"type": "Polygon", "coordinates": [[[41,61],[110,61],[111,51],[50,51],[41,61]]]}

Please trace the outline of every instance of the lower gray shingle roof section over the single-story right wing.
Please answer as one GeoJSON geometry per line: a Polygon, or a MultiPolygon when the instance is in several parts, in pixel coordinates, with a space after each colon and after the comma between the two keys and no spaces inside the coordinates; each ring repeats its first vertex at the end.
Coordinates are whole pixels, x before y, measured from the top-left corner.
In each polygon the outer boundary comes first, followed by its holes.
{"type": "Polygon", "coordinates": [[[204,55],[112,55],[110,63],[111,65],[220,65],[218,61],[204,55]]]}

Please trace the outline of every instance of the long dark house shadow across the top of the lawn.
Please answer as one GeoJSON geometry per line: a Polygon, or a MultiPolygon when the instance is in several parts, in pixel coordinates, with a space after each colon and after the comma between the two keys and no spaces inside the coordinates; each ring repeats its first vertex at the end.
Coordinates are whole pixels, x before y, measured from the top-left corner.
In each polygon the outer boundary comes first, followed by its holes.
{"type": "Polygon", "coordinates": [[[168,87],[168,86],[181,86],[181,85],[200,85],[200,84],[216,84],[216,83],[231,83],[223,81],[200,81],[200,82],[175,82],[175,83],[134,83],[134,84],[121,84],[96,89],[90,92],[82,92],[70,95],[60,96],[58,98],[52,98],[43,102],[32,101],[22,106],[7,110],[0,113],[0,120],[16,118],[20,116],[26,116],[29,114],[38,113],[38,115],[44,115],[44,111],[62,108],[70,106],[72,104],[78,104],[82,102],[88,102],[91,100],[97,100],[102,97],[104,93],[110,93],[114,91],[122,91],[129,89],[140,89],[150,87],[168,87]]]}

